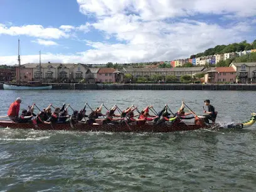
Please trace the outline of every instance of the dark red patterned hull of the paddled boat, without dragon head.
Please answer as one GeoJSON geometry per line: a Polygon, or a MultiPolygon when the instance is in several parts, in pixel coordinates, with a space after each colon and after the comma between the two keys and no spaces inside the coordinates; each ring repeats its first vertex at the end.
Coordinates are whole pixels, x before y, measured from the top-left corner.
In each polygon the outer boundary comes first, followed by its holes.
{"type": "Polygon", "coordinates": [[[0,121],[0,127],[9,127],[13,129],[36,129],[36,130],[55,130],[55,131],[104,131],[104,132],[174,132],[174,131],[193,131],[197,129],[210,128],[211,126],[202,126],[196,124],[178,124],[178,125],[88,125],[88,124],[29,124],[15,123],[11,121],[0,121]]]}

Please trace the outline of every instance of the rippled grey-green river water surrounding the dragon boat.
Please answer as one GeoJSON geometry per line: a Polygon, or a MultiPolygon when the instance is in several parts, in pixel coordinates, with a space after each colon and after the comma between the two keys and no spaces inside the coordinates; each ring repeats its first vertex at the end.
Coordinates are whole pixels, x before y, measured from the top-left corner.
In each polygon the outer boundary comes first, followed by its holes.
{"type": "MultiPolygon", "coordinates": [[[[63,103],[75,109],[134,104],[142,109],[181,100],[197,114],[210,99],[217,122],[241,122],[255,111],[255,92],[184,90],[0,90],[0,115],[63,103]]],[[[252,127],[256,130],[256,126],[252,127]]],[[[0,129],[0,191],[255,191],[256,131],[108,133],[0,129]]]]}

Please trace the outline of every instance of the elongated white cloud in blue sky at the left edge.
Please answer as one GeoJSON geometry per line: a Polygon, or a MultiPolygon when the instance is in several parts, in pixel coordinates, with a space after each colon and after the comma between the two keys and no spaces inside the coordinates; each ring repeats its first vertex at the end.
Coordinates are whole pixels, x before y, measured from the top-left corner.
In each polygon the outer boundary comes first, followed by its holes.
{"type": "Polygon", "coordinates": [[[69,37],[65,31],[61,31],[57,28],[44,28],[38,24],[11,26],[9,28],[4,24],[0,24],[0,35],[1,34],[11,36],[26,35],[44,39],[59,39],[69,37]]]}

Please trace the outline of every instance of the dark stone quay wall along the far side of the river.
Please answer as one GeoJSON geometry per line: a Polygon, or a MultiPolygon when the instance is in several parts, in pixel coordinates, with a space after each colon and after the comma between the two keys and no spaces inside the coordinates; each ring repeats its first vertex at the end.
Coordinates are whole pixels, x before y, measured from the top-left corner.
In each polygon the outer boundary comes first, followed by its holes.
{"type": "MultiPolygon", "coordinates": [[[[256,90],[256,84],[82,84],[53,83],[53,90],[256,90]]],[[[3,89],[3,84],[0,85],[3,89]]]]}

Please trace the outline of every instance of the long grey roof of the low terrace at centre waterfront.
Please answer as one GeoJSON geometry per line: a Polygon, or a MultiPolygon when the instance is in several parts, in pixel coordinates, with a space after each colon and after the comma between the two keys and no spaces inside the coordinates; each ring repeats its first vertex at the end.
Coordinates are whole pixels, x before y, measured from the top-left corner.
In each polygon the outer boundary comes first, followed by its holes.
{"type": "Polygon", "coordinates": [[[174,67],[174,68],[124,68],[129,72],[201,72],[205,67],[174,67]]]}

